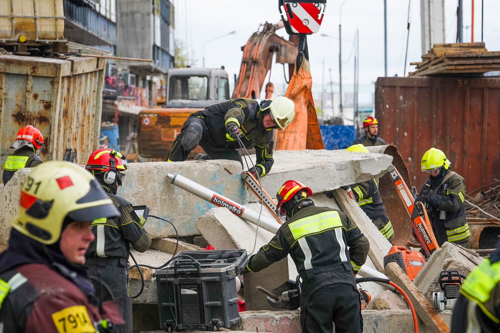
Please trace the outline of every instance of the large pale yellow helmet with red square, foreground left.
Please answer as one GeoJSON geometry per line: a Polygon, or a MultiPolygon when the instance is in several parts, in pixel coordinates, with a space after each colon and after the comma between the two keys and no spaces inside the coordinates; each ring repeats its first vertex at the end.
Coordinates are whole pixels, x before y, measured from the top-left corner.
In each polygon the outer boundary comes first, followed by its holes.
{"type": "Polygon", "coordinates": [[[73,163],[50,161],[26,176],[11,224],[21,234],[50,245],[60,238],[66,217],[87,222],[119,215],[89,172],[73,163]]]}

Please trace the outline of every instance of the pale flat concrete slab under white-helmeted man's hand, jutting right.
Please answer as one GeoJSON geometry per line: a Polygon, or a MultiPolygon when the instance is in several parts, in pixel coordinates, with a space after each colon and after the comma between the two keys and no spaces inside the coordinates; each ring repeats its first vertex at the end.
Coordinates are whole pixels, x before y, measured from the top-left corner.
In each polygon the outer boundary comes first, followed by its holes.
{"type": "MultiPolygon", "coordinates": [[[[387,172],[392,161],[389,155],[325,149],[275,151],[273,157],[271,171],[261,179],[270,195],[275,195],[288,179],[298,180],[313,193],[319,193],[378,178],[387,172]]],[[[251,158],[255,163],[255,155],[251,158]]]]}

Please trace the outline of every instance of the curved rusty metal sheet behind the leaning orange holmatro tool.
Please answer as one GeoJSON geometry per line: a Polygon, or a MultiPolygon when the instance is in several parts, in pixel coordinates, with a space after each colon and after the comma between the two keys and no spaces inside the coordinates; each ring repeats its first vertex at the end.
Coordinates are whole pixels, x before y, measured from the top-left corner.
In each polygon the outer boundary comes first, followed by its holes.
{"type": "MultiPolygon", "coordinates": [[[[366,147],[366,149],[368,149],[370,153],[387,154],[392,156],[392,165],[397,169],[406,183],[406,186],[411,188],[408,169],[406,168],[401,155],[397,152],[396,146],[372,146],[366,147]]],[[[392,244],[406,246],[406,244],[408,244],[408,239],[411,236],[411,221],[388,172],[378,179],[378,190],[380,191],[380,197],[382,198],[383,205],[385,206],[385,212],[387,213],[387,216],[392,224],[392,229],[394,229],[392,244]]]]}

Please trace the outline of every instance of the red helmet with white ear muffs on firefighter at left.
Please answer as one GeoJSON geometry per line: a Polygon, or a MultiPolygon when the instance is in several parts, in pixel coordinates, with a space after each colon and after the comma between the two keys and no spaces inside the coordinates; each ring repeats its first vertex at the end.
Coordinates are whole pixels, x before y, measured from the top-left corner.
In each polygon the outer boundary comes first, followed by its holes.
{"type": "Polygon", "coordinates": [[[103,181],[108,185],[114,184],[115,181],[121,185],[121,179],[125,174],[120,171],[126,170],[126,165],[122,162],[125,158],[125,155],[114,149],[99,148],[90,154],[85,169],[92,170],[90,172],[93,175],[104,173],[103,181]],[[93,170],[99,170],[99,172],[93,170]]]}

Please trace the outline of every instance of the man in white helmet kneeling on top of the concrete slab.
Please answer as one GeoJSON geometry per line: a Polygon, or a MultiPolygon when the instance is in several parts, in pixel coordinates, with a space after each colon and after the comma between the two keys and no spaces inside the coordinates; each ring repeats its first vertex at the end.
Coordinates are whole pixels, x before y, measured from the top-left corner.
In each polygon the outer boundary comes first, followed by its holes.
{"type": "Polygon", "coordinates": [[[208,106],[191,114],[184,122],[167,162],[185,161],[196,145],[206,155],[198,154],[195,159],[227,159],[239,161],[241,156],[239,137],[246,148],[255,147],[257,163],[250,168],[254,176],[265,176],[271,170],[272,129],[283,130],[295,114],[293,101],[278,96],[258,103],[253,99],[236,98],[208,106]]]}

